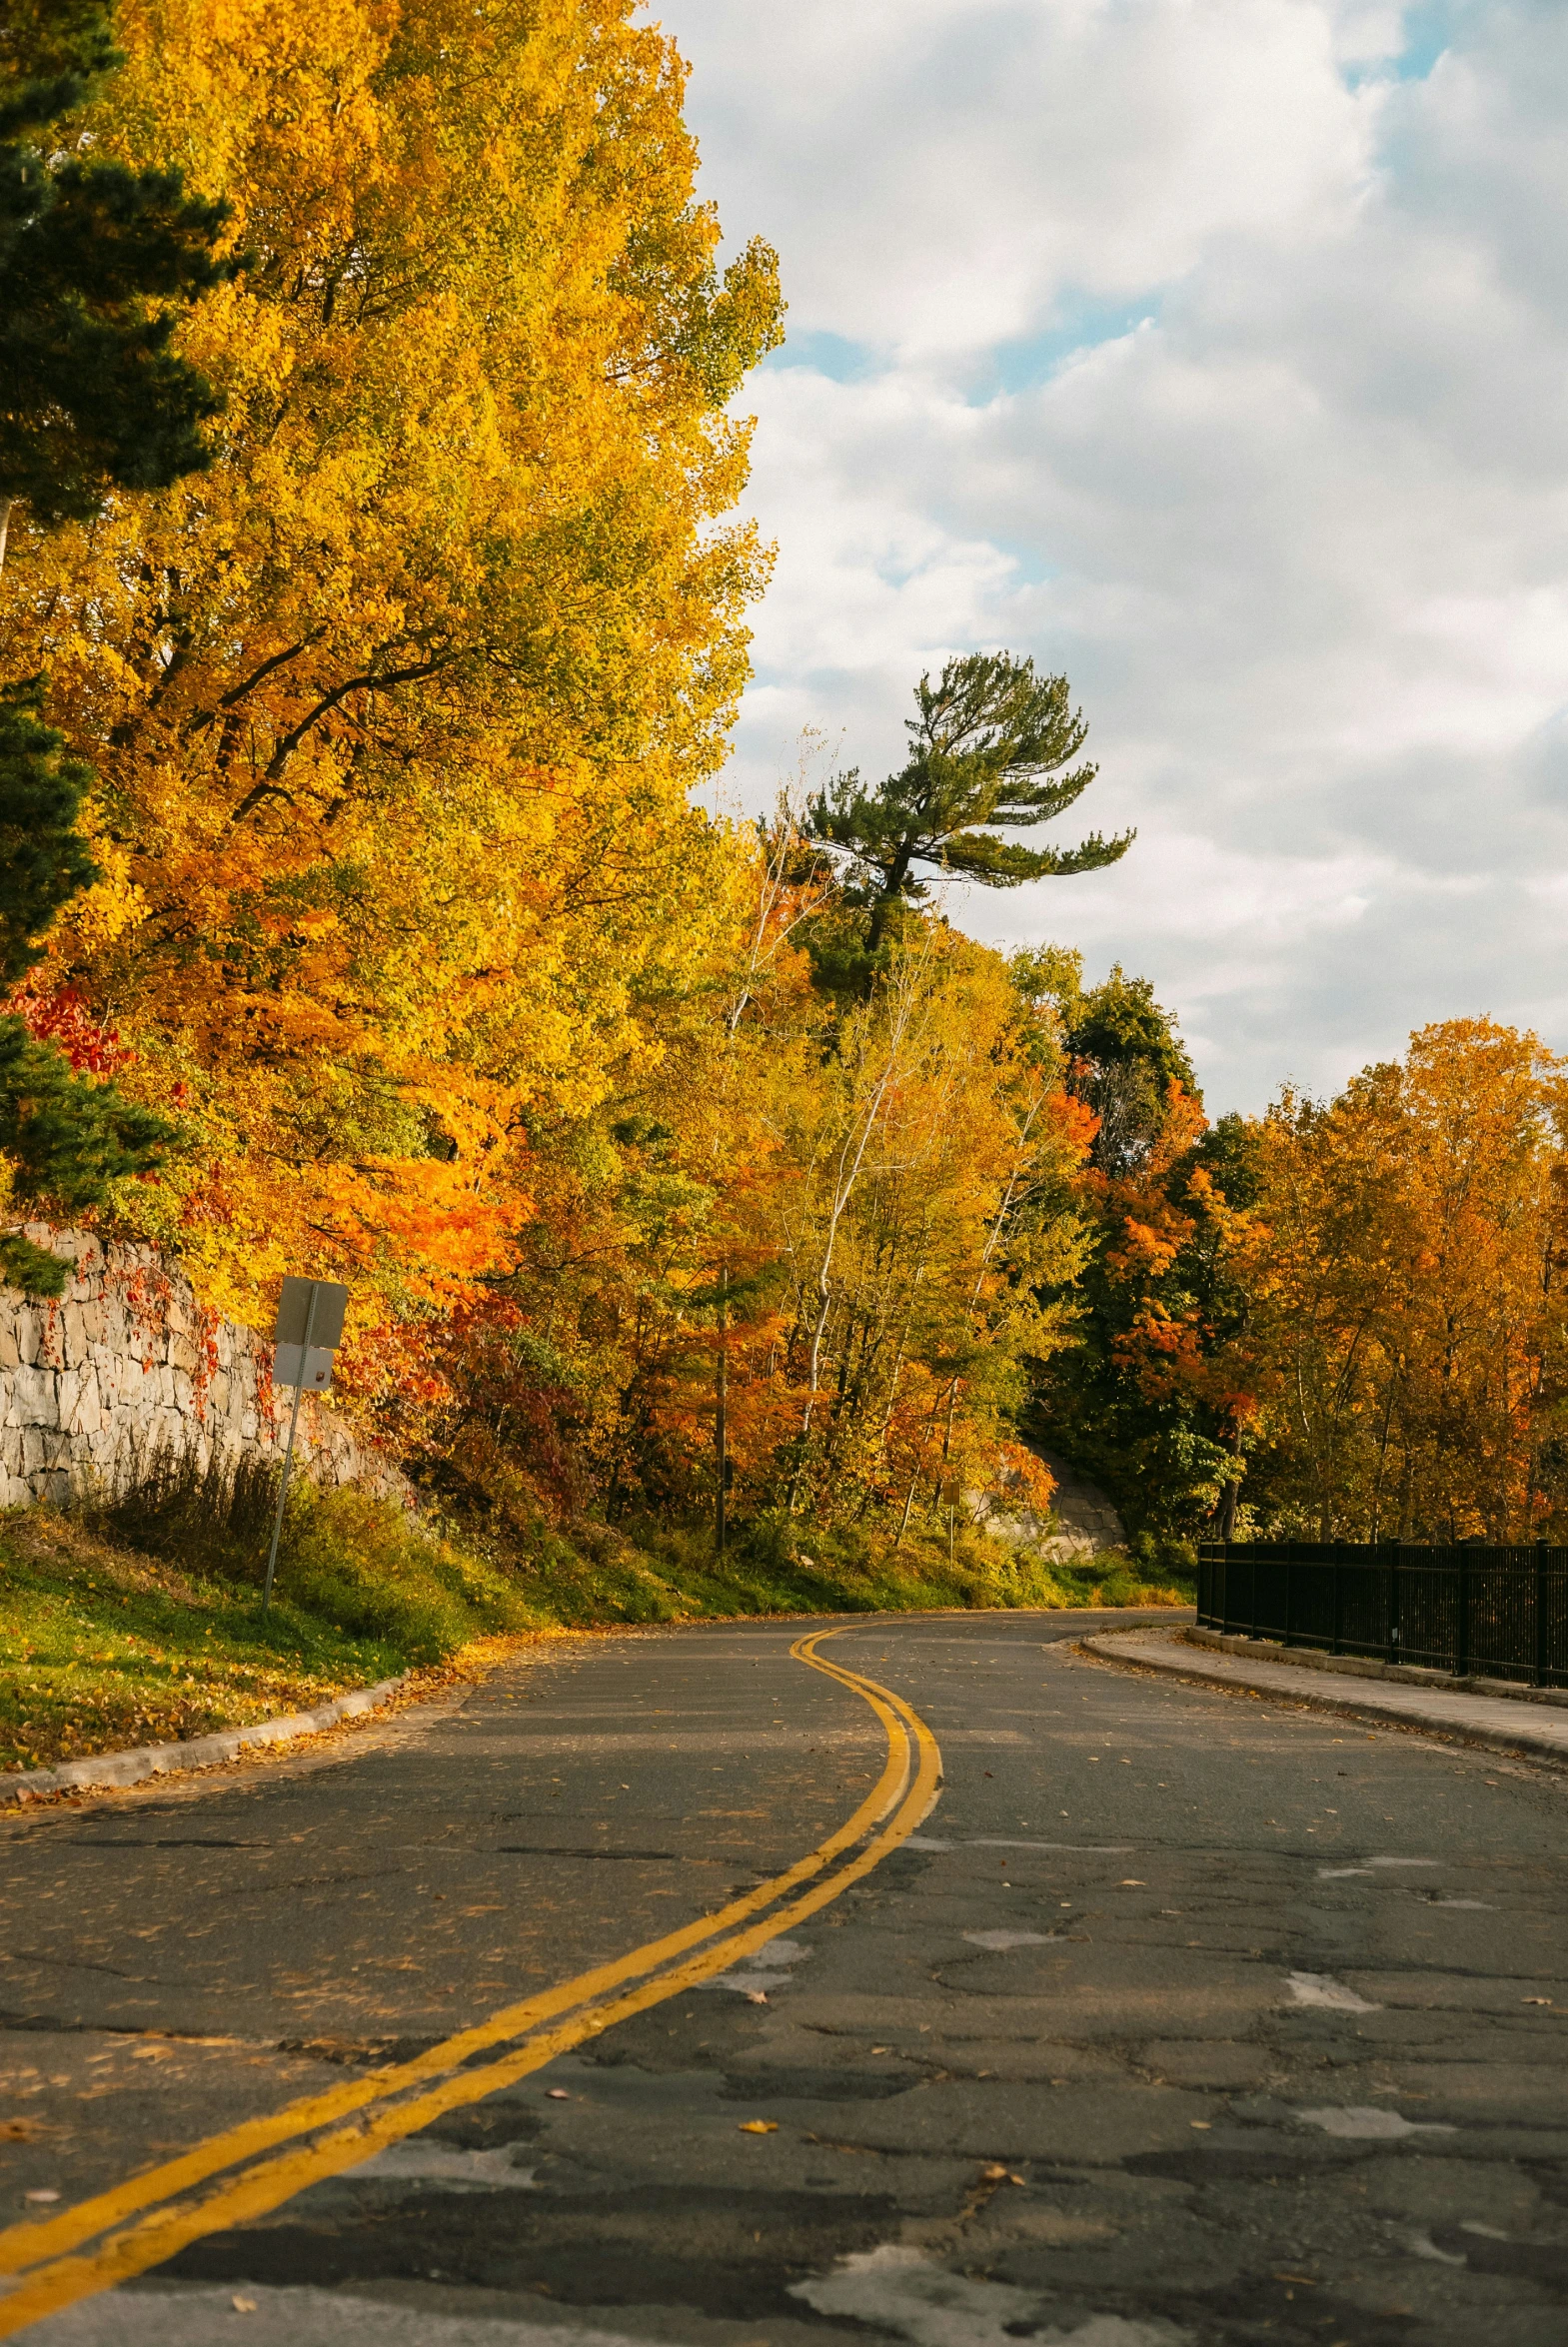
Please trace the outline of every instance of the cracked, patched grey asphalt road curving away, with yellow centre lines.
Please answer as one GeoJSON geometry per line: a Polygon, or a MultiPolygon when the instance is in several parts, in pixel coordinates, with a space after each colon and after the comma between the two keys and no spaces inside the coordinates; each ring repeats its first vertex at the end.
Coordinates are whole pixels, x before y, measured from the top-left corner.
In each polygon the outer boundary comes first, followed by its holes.
{"type": "Polygon", "coordinates": [[[1103,1619],[822,1643],[908,1713],[584,1638],[7,1821],[0,2335],[1563,2347],[1568,1784],[1103,1619]]]}

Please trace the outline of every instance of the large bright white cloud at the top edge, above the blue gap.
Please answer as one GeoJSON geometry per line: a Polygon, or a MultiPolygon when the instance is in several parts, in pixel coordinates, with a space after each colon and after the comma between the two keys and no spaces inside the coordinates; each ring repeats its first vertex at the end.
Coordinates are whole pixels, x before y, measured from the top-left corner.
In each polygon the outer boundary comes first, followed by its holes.
{"type": "MultiPolygon", "coordinates": [[[[918,354],[1129,296],[1354,197],[1368,108],[1319,0],[676,0],[711,185],[796,326],[918,354]]],[[[1352,12],[1373,21],[1390,12],[1352,12]]]]}

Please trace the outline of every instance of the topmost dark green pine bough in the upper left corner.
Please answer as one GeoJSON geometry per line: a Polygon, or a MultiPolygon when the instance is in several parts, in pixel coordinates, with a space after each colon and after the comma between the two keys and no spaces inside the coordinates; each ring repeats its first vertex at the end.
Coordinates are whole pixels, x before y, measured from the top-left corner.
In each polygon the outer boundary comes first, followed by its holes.
{"type": "Polygon", "coordinates": [[[237,268],[216,251],[228,207],[47,136],[117,63],[103,0],[0,9],[0,559],[21,498],[45,528],[87,521],[211,460],[221,401],[169,340],[237,268]]]}

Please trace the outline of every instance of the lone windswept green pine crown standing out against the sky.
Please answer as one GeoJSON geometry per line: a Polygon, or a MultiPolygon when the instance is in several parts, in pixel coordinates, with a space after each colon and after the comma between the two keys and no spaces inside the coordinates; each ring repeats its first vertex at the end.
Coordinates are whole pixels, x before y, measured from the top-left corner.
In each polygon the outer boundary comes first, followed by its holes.
{"type": "Polygon", "coordinates": [[[1070,765],[1089,728],[1070,706],[1066,676],[1035,676],[1033,660],[1012,652],[967,652],[948,660],[934,685],[920,678],[915,706],[908,765],[873,791],[859,770],[836,775],[800,826],[822,847],[854,857],[871,901],[866,953],[883,943],[901,899],[930,894],[920,866],[1019,887],[1047,873],[1091,873],[1127,854],[1131,831],[1113,840],[1094,831],[1077,847],[1023,847],[986,828],[1049,824],[1094,782],[1094,765],[1070,765]]]}

